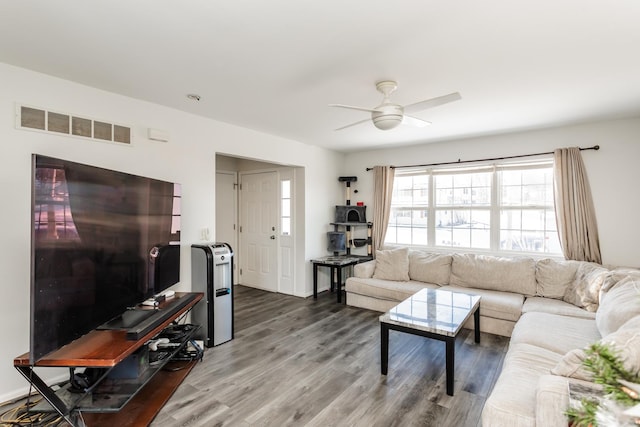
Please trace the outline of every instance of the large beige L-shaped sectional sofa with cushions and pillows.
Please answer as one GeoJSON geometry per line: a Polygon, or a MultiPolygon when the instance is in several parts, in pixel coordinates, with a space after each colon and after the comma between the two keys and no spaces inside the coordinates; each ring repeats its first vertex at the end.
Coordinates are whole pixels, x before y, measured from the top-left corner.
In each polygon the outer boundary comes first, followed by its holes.
{"type": "Polygon", "coordinates": [[[346,301],[383,312],[425,287],[481,295],[481,330],[510,337],[483,427],[566,427],[569,382],[597,387],[582,368],[585,347],[596,341],[640,372],[638,270],[394,248],[354,267],[346,301]]]}

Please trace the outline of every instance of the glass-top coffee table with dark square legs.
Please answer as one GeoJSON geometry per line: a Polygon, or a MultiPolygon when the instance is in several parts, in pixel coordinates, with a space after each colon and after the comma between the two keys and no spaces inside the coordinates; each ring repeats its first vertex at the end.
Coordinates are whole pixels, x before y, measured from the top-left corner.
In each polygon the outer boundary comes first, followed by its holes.
{"type": "Polygon", "coordinates": [[[474,317],[475,342],[480,342],[480,297],[441,289],[421,289],[380,316],[382,375],[389,364],[389,330],[446,343],[447,394],[453,396],[455,342],[462,325],[474,317]]]}

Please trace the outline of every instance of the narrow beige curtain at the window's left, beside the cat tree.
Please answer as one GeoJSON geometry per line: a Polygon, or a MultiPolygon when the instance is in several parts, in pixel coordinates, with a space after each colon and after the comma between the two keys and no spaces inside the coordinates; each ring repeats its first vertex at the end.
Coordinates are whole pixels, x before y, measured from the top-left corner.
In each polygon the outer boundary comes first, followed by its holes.
{"type": "Polygon", "coordinates": [[[373,254],[384,245],[384,236],[389,226],[391,195],[393,194],[393,168],[374,166],[373,168],[373,254]]]}

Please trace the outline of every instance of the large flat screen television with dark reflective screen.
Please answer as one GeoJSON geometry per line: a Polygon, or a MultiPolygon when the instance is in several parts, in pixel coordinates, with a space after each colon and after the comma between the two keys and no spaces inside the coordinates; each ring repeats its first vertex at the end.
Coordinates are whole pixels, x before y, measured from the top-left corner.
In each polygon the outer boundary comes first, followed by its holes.
{"type": "Polygon", "coordinates": [[[180,280],[180,185],[33,155],[30,363],[180,280]]]}

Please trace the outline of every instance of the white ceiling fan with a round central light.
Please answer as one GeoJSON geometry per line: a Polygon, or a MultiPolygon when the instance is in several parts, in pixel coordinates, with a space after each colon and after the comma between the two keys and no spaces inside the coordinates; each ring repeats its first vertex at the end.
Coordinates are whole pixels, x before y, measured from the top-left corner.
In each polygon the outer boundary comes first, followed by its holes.
{"type": "Polygon", "coordinates": [[[430,122],[419,119],[417,117],[408,116],[405,113],[413,114],[418,111],[426,110],[427,108],[437,107],[442,104],[457,101],[462,99],[458,92],[450,93],[449,95],[439,96],[437,98],[426,99],[424,101],[416,102],[415,104],[399,105],[394,104],[389,99],[391,94],[398,88],[398,84],[392,80],[383,80],[376,83],[376,89],[384,96],[382,103],[374,108],[354,107],[351,105],[343,104],[329,104],[329,107],[347,108],[349,110],[359,110],[371,113],[371,119],[360,120],[350,125],[342,126],[336,130],[346,129],[351,126],[359,125],[360,123],[373,121],[373,125],[381,130],[389,130],[398,126],[400,123],[424,127],[430,125],[430,122]]]}

